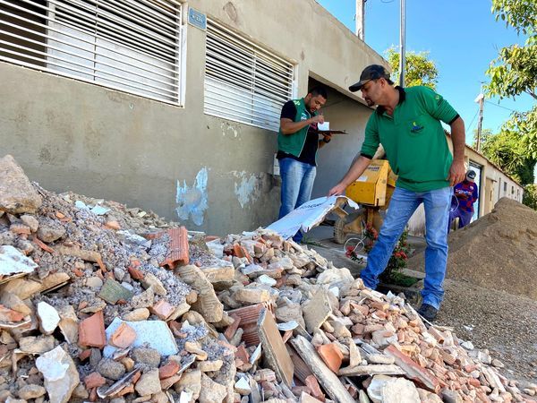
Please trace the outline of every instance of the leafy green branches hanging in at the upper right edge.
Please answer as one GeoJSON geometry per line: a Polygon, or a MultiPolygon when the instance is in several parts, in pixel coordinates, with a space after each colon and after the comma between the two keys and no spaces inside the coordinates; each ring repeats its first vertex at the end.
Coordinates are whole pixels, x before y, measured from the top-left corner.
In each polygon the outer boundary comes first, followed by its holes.
{"type": "MultiPolygon", "coordinates": [[[[516,98],[526,93],[537,99],[537,2],[535,0],[492,0],[496,20],[506,21],[518,34],[527,36],[524,46],[512,45],[499,50],[490,63],[486,86],[489,97],[516,98]]],[[[524,144],[526,154],[537,159],[537,107],[516,112],[502,126],[502,133],[524,144]]]]}

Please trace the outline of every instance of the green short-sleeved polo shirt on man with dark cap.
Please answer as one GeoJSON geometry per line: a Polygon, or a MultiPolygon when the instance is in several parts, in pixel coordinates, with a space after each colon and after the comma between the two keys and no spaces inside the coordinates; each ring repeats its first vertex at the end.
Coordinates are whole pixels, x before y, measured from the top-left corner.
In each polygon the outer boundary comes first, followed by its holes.
{"type": "Polygon", "coordinates": [[[413,192],[449,186],[447,176],[453,157],[440,121],[452,124],[458,114],[428,87],[399,91],[393,116],[383,107],[370,116],[365,128],[362,155],[369,159],[382,144],[389,165],[399,178],[396,185],[413,192]]]}

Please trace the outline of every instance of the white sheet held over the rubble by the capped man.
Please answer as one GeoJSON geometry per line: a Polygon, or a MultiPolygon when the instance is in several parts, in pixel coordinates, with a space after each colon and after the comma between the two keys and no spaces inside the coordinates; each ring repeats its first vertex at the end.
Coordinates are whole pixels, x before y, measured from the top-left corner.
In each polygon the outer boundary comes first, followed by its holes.
{"type": "Polygon", "coordinates": [[[305,202],[286,217],[270,224],[267,229],[277,232],[285,239],[294,236],[299,229],[308,232],[311,228],[317,227],[328,213],[336,208],[338,199],[345,199],[354,210],[358,209],[358,204],[345,196],[320,197],[305,202]]]}

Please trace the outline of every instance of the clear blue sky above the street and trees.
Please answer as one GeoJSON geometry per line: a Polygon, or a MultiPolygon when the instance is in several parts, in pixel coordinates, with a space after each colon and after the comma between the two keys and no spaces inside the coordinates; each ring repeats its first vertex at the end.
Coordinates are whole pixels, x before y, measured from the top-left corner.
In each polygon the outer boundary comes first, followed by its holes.
{"type": "MultiPolygon", "coordinates": [[[[354,31],[354,0],[317,0],[354,31]]],[[[481,81],[498,50],[524,43],[515,30],[490,13],[490,0],[407,0],[406,50],[428,51],[439,70],[437,91],[456,108],[466,124],[466,142],[477,128],[481,81]]],[[[399,46],[399,0],[368,0],[365,4],[365,42],[382,56],[388,47],[399,46]]],[[[358,80],[358,78],[356,78],[358,80]]],[[[512,99],[488,99],[483,129],[497,132],[511,110],[524,111],[533,99],[524,94],[512,99]]]]}

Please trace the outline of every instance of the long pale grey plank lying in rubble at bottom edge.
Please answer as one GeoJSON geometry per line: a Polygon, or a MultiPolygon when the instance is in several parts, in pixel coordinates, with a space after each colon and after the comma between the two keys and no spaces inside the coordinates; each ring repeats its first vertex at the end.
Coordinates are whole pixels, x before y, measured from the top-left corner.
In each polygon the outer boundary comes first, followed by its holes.
{"type": "Polygon", "coordinates": [[[354,399],[345,389],[343,383],[339,381],[335,373],[330,371],[307,339],[303,336],[297,336],[291,340],[291,343],[332,400],[337,403],[354,403],[354,399]]]}

